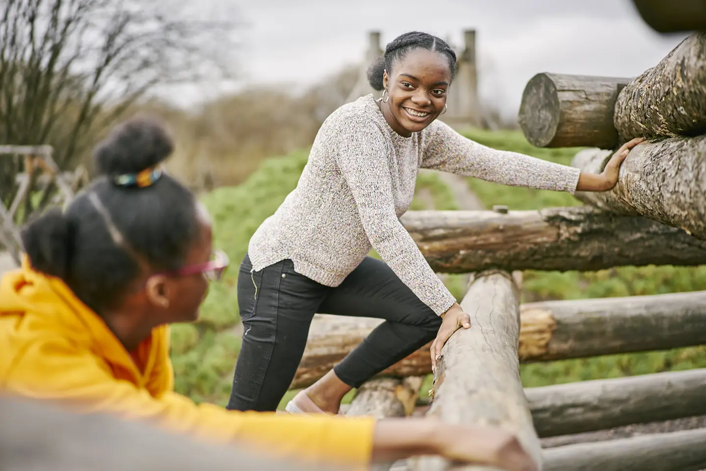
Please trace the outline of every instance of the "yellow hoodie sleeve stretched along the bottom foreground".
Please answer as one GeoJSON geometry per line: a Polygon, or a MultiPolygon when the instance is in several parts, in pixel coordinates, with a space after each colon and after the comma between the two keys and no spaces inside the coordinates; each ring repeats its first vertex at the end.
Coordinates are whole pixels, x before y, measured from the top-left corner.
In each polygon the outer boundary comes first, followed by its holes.
{"type": "Polygon", "coordinates": [[[372,452],[374,419],[236,412],[196,405],[172,391],[154,398],[114,378],[100,357],[61,339],[32,342],[4,383],[8,393],[50,400],[76,412],[107,412],[208,441],[246,443],[303,463],[362,468],[372,452]]]}

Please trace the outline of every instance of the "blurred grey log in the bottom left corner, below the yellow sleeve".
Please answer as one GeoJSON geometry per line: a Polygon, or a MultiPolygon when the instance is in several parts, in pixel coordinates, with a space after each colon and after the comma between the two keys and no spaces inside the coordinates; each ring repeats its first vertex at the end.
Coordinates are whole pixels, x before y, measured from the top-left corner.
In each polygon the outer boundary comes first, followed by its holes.
{"type": "Polygon", "coordinates": [[[76,415],[43,403],[0,398],[0,417],[4,471],[323,471],[283,463],[241,444],[216,446],[139,422],[76,415]]]}

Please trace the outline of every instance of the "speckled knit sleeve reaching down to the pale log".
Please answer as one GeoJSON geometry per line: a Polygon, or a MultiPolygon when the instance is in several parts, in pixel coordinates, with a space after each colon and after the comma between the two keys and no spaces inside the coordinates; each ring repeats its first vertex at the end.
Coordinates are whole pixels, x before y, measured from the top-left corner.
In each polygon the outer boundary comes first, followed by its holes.
{"type": "Polygon", "coordinates": [[[364,116],[349,115],[345,126],[354,132],[331,133],[331,149],[371,245],[421,302],[443,314],[456,299],[397,218],[383,131],[364,116]]]}

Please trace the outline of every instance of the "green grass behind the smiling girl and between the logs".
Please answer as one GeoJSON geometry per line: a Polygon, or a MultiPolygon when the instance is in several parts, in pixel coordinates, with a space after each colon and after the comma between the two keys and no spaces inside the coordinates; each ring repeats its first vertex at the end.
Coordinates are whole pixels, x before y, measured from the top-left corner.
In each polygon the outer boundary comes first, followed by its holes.
{"type": "MultiPolygon", "coordinates": [[[[513,150],[562,164],[568,164],[578,151],[534,148],[521,133],[515,131],[469,130],[465,134],[493,148],[513,150]]],[[[235,330],[239,323],[236,293],[239,263],[246,254],[253,232],[297,185],[307,156],[308,151],[301,150],[266,160],[243,184],[217,189],[202,198],[214,218],[215,244],[227,252],[232,265],[225,279],[211,287],[199,321],[172,328],[172,359],[177,391],[197,402],[208,401],[220,405],[227,402],[240,347],[239,334],[235,330]]],[[[488,208],[494,204],[508,205],[513,210],[580,205],[568,193],[514,188],[477,179],[468,179],[468,184],[488,208]]],[[[453,193],[438,179],[438,175],[423,173],[417,180],[417,197],[410,209],[428,209],[429,196],[436,209],[458,209],[453,193]]],[[[376,256],[374,251],[371,254],[376,256]]],[[[524,275],[523,302],[706,290],[706,267],[621,267],[590,273],[528,270],[524,275]]],[[[449,290],[460,299],[465,289],[460,277],[449,276],[446,282],[449,290]]],[[[528,364],[522,365],[521,376],[525,386],[544,386],[697,367],[706,367],[704,347],[528,364]]],[[[421,393],[426,394],[429,387],[430,383],[426,381],[421,393]]],[[[294,393],[296,391],[289,391],[282,404],[294,393]]],[[[350,400],[353,394],[349,394],[346,400],[350,400]]]]}

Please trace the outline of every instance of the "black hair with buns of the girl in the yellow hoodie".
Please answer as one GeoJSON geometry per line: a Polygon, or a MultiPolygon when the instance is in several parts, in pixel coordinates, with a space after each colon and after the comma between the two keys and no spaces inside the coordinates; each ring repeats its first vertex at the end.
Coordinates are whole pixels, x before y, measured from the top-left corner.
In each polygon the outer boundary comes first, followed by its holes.
{"type": "Polygon", "coordinates": [[[120,302],[140,270],[178,268],[199,234],[196,197],[164,173],[150,186],[115,181],[160,164],[173,149],[149,117],[116,126],[93,152],[101,177],[64,212],[52,208],[23,228],[32,268],[66,282],[97,314],[120,302]]]}

